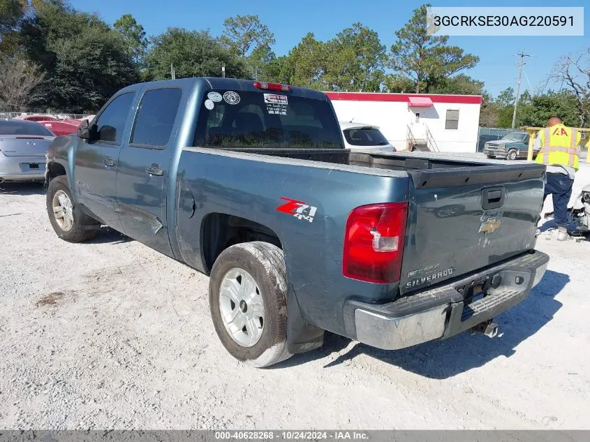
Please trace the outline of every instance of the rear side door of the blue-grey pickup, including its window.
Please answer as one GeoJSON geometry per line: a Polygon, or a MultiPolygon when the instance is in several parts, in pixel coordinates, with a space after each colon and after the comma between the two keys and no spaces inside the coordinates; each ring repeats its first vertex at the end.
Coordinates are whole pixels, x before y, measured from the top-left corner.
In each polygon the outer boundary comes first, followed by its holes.
{"type": "Polygon", "coordinates": [[[146,89],[117,172],[117,212],[126,235],[168,256],[166,201],[182,89],[146,89]]]}

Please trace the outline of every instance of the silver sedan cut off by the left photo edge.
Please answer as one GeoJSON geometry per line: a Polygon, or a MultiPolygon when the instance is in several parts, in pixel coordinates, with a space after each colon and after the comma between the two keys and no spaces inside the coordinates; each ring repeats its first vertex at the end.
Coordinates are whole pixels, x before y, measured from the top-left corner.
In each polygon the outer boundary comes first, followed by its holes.
{"type": "Polygon", "coordinates": [[[0,183],[45,179],[45,153],[55,135],[36,121],[0,119],[0,183]]]}

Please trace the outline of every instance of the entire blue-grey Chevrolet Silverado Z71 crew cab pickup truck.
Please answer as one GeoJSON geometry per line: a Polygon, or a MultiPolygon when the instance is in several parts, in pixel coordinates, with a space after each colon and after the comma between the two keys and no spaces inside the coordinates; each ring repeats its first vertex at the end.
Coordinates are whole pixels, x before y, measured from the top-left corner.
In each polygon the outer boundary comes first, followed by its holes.
{"type": "Polygon", "coordinates": [[[108,225],[208,274],[221,343],[256,367],[325,330],[385,349],[493,335],[547,267],[545,166],[345,149],[325,94],[284,84],[134,84],[46,171],[59,237],[108,225]]]}

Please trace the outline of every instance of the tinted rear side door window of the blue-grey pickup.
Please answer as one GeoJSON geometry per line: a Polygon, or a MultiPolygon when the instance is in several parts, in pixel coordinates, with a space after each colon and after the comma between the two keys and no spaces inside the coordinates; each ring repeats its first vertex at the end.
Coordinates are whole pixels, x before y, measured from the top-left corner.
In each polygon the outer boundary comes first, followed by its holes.
{"type": "Polygon", "coordinates": [[[170,140],[181,96],[182,90],[177,88],[147,91],[135,118],[131,143],[165,147],[170,140]]]}

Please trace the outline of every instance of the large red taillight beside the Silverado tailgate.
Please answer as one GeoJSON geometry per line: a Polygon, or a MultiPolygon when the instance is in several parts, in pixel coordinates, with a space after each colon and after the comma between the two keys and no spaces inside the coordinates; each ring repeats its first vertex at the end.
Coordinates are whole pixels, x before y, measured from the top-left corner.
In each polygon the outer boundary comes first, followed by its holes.
{"type": "Polygon", "coordinates": [[[407,202],[361,206],[348,215],[342,272],[374,283],[399,281],[407,202]]]}

